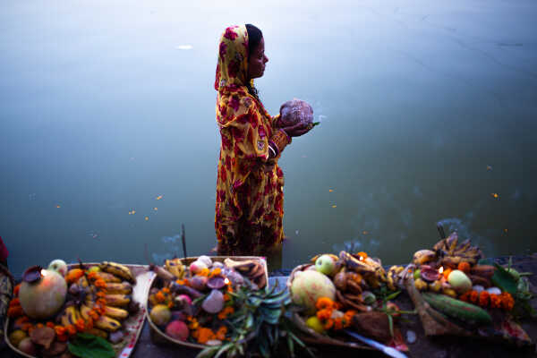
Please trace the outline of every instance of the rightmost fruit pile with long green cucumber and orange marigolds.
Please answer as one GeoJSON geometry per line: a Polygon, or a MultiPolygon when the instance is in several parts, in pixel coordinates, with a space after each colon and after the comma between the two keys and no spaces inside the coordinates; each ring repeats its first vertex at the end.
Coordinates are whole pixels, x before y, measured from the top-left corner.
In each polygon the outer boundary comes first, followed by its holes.
{"type": "Polygon", "coordinates": [[[489,264],[470,240],[459,243],[456,232],[432,250],[416,251],[406,268],[389,268],[388,277],[406,288],[427,335],[489,332],[490,337],[531,342],[512,320],[516,303],[531,296],[527,280],[513,268],[489,264]],[[490,329],[480,331],[480,327],[490,329]]]}

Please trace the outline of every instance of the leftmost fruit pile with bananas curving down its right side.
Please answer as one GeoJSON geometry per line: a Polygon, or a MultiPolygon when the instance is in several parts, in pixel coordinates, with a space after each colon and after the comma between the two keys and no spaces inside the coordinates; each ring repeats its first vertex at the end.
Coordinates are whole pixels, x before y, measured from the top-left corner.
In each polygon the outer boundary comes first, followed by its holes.
{"type": "Polygon", "coordinates": [[[131,298],[135,282],[131,270],[115,262],[68,269],[54,260],[47,269],[28,268],[8,310],[10,343],[25,354],[66,358],[88,348],[86,342],[115,356],[113,345],[125,336],[122,322],[140,309],[131,298]]]}

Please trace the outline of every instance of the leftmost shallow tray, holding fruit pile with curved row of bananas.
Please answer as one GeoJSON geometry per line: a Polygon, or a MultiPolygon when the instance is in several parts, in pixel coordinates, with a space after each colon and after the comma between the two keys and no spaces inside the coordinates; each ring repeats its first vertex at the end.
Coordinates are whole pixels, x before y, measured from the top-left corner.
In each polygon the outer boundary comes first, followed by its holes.
{"type": "MultiPolygon", "coordinates": [[[[95,266],[98,265],[99,262],[84,262],[83,264],[88,266],[95,266]]],[[[71,269],[78,265],[78,263],[72,263],[69,264],[68,267],[71,269]]],[[[140,311],[138,311],[135,315],[129,316],[127,320],[123,321],[123,326],[126,333],[125,337],[121,342],[112,345],[116,353],[115,356],[117,358],[129,357],[132,354],[132,350],[134,349],[136,342],[138,342],[138,338],[141,335],[141,329],[143,328],[143,321],[145,320],[146,316],[146,306],[144,303],[148,300],[149,287],[151,282],[153,281],[153,277],[155,276],[154,272],[149,271],[148,265],[124,264],[124,266],[130,268],[132,274],[134,275],[134,277],[136,277],[136,285],[132,286],[132,300],[136,301],[137,303],[140,303],[140,311]]],[[[24,352],[21,352],[19,349],[17,349],[11,344],[8,338],[8,327],[9,318],[5,320],[4,326],[4,340],[7,345],[9,345],[9,347],[13,349],[13,351],[15,351],[17,354],[21,354],[22,356],[28,358],[37,358],[34,355],[25,354],[24,352]]]]}

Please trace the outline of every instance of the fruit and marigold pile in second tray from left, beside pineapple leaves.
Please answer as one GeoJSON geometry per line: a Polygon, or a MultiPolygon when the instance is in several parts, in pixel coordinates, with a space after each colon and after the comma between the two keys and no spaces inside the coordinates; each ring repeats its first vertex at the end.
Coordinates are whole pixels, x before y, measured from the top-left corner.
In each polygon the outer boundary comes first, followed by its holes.
{"type": "Polygon", "coordinates": [[[154,269],[159,280],[149,291],[149,320],[167,337],[200,345],[227,340],[236,289],[255,291],[267,284],[260,260],[220,262],[200,256],[188,268],[174,259],[154,269]]]}

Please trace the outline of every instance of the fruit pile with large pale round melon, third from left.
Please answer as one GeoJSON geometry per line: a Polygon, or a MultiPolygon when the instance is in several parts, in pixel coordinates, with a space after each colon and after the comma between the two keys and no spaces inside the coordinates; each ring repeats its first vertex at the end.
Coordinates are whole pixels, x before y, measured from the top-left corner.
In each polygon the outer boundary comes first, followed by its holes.
{"type": "Polygon", "coordinates": [[[395,287],[388,285],[380,261],[366,252],[315,256],[311,264],[294,269],[288,286],[293,302],[303,308],[301,320],[315,332],[337,337],[338,331],[352,328],[407,349],[394,336],[399,335],[394,318],[402,312],[390,301],[396,296],[395,287]]]}

